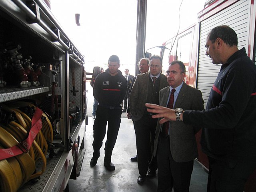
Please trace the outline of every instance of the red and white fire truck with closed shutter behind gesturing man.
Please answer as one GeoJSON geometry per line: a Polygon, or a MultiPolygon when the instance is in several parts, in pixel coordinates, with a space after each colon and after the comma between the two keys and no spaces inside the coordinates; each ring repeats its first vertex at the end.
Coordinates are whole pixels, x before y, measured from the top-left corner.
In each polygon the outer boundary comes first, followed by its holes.
{"type": "MultiPolygon", "coordinates": [[[[238,48],[245,47],[250,59],[256,62],[256,4],[254,0],[209,0],[204,4],[204,9],[198,13],[196,24],[179,32],[177,36],[170,38],[161,46],[154,47],[150,53],[145,53],[145,56],[153,54],[162,56],[163,70],[166,70],[173,60],[184,62],[185,82],[201,90],[205,107],[221,65],[212,64],[211,59],[205,55],[204,45],[208,32],[219,25],[228,25],[233,28],[238,35],[238,48]]],[[[199,153],[197,160],[208,171],[208,159],[200,150],[200,135],[201,131],[196,134],[199,153]]],[[[244,191],[255,192],[255,183],[256,171],[248,179],[244,191]]]]}

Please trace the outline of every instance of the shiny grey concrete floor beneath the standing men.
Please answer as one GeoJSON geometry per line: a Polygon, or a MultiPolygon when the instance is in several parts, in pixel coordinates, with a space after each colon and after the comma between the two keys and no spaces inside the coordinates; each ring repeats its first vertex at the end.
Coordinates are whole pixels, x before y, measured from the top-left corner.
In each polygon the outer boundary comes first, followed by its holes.
{"type": "MultiPolygon", "coordinates": [[[[100,149],[100,158],[94,167],[90,167],[93,148],[94,119],[92,119],[92,87],[86,83],[88,89],[88,125],[86,126],[86,153],[80,176],[77,180],[69,181],[70,192],[156,192],[157,178],[147,179],[143,186],[137,183],[139,176],[137,162],[131,162],[130,158],[136,155],[135,133],[132,120],[126,117],[126,113],[121,116],[121,125],[116,140],[116,145],[112,154],[112,163],[116,169],[113,172],[106,170],[103,165],[104,142],[100,149]]],[[[190,192],[206,192],[208,174],[204,172],[200,164],[194,161],[190,192]]]]}

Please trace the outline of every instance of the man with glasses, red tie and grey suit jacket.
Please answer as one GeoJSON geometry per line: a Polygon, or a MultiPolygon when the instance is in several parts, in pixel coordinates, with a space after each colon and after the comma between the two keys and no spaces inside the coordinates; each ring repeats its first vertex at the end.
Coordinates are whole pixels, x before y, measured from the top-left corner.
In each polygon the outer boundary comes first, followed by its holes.
{"type": "MultiPolygon", "coordinates": [[[[174,61],[166,71],[170,86],[160,90],[159,105],[168,108],[203,110],[204,100],[200,90],[183,82],[186,68],[181,61],[174,61]]],[[[194,158],[198,156],[195,134],[198,127],[182,122],[168,121],[158,124],[154,141],[154,155],[158,160],[158,192],[188,192],[194,158]]]]}

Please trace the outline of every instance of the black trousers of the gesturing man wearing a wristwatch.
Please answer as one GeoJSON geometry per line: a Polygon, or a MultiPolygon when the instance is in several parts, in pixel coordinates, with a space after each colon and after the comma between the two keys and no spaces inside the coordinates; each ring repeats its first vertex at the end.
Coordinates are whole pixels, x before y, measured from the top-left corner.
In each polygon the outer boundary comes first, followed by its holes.
{"type": "Polygon", "coordinates": [[[256,162],[220,161],[208,156],[207,192],[243,192],[244,184],[256,168],[256,162]]]}

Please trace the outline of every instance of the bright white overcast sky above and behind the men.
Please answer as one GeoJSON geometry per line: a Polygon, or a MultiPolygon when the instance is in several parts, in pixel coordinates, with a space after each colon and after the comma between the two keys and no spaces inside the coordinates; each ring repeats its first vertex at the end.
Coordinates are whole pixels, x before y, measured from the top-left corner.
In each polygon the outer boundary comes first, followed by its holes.
{"type": "MultiPolygon", "coordinates": [[[[161,46],[197,21],[206,0],[148,0],[146,50],[161,46]]],[[[54,16],[82,52],[87,72],[94,66],[106,70],[109,56],[120,58],[120,70],[135,72],[137,0],[51,0],[54,16]],[[80,24],[75,14],[80,14],[80,24]]],[[[160,50],[159,50],[160,53],[160,50]]]]}

